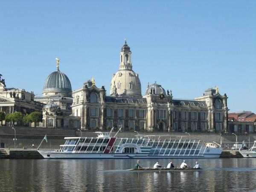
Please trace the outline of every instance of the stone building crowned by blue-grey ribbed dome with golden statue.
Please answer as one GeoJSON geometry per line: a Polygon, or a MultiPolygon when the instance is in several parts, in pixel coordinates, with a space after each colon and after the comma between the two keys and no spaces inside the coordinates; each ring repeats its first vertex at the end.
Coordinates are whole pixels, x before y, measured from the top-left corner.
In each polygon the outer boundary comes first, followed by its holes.
{"type": "Polygon", "coordinates": [[[35,101],[46,104],[43,108],[41,127],[79,128],[80,118],[71,116],[73,102],[71,83],[66,74],[59,70],[60,59],[57,60],[56,71],[49,74],[43,96],[35,97],[35,101]]]}

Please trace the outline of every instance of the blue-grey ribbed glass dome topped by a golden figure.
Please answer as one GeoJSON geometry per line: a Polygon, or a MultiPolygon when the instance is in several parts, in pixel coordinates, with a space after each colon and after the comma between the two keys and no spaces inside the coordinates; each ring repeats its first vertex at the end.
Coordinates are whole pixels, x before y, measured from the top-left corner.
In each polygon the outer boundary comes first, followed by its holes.
{"type": "Polygon", "coordinates": [[[72,97],[70,80],[58,69],[58,64],[57,70],[47,77],[43,88],[43,96],[53,95],[72,97]]]}

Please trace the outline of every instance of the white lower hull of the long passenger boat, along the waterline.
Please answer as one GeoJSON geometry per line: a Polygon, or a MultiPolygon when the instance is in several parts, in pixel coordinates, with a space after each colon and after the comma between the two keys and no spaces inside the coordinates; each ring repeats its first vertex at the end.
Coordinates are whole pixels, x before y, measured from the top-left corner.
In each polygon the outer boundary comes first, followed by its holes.
{"type": "Polygon", "coordinates": [[[99,154],[99,153],[68,153],[62,151],[55,151],[55,150],[38,150],[38,152],[45,158],[45,159],[190,159],[190,158],[219,158],[221,155],[221,151],[212,154],[199,154],[199,155],[154,155],[151,156],[150,154],[99,154]]]}

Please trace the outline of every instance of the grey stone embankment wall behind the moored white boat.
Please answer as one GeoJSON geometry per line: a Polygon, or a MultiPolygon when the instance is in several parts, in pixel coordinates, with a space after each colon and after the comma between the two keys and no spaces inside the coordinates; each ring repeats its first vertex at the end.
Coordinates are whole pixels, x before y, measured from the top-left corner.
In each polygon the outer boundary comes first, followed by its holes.
{"type": "MultiPolygon", "coordinates": [[[[16,130],[16,148],[37,148],[43,140],[45,134],[47,134],[48,142],[44,140],[40,148],[60,148],[59,145],[64,144],[64,137],[80,137],[80,131],[76,129],[68,128],[28,128],[28,127],[15,127],[16,130]]],[[[83,137],[95,137],[94,131],[82,131],[83,137]]],[[[122,131],[118,134],[118,137],[135,137],[137,133],[133,131],[122,131]]],[[[189,140],[189,135],[181,132],[139,132],[143,135],[169,135],[169,136],[184,136],[186,140],[189,140]]],[[[191,140],[201,140],[204,142],[215,141],[220,143],[220,134],[218,133],[190,133],[191,140]]],[[[237,134],[238,142],[243,140],[248,144],[250,137],[250,146],[253,141],[256,140],[256,134],[237,134]]],[[[4,143],[5,148],[14,148],[14,130],[11,127],[0,127],[0,144],[4,143]]],[[[222,144],[233,144],[236,142],[236,136],[233,134],[222,134],[222,144]]],[[[3,145],[3,144],[2,144],[3,145]]]]}

